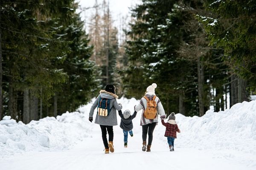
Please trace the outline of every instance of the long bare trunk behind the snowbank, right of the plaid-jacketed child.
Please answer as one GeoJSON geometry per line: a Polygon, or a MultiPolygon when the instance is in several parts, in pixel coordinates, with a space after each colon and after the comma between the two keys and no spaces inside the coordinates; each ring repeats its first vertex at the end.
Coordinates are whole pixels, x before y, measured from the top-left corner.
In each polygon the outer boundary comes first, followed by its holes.
{"type": "Polygon", "coordinates": [[[204,65],[201,62],[201,57],[198,57],[197,71],[198,71],[198,102],[199,102],[199,116],[204,115],[204,65]]]}

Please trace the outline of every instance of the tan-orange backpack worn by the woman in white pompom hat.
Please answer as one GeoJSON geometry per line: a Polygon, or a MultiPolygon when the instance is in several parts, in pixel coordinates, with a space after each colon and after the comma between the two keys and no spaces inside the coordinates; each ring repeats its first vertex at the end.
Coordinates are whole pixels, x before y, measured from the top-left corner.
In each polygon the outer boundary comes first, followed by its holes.
{"type": "Polygon", "coordinates": [[[148,97],[144,96],[147,100],[147,108],[144,111],[144,117],[147,119],[154,119],[157,117],[157,103],[155,102],[157,96],[154,96],[152,100],[149,100],[148,97]]]}

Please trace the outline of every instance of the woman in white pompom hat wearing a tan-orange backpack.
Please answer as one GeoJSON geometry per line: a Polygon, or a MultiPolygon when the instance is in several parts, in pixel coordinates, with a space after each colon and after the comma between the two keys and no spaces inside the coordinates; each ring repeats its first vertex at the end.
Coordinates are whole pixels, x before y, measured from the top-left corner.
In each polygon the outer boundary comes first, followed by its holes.
{"type": "MultiPolygon", "coordinates": [[[[161,119],[164,119],[166,117],[165,111],[163,109],[163,105],[160,102],[160,99],[155,94],[155,88],[157,88],[157,84],[153,83],[152,85],[148,86],[145,92],[145,96],[143,96],[140,99],[140,104],[135,106],[135,111],[140,111],[141,109],[141,119],[140,119],[140,125],[142,126],[142,139],[143,139],[143,147],[142,150],[145,151],[147,149],[147,152],[151,151],[151,144],[153,140],[153,131],[155,126],[158,123],[158,115],[160,115],[161,119]],[[153,107],[149,107],[147,105],[154,104],[156,108],[155,116],[148,116],[148,113],[151,110],[154,110],[153,107]],[[148,135],[148,145],[146,145],[147,141],[147,135],[148,135]]],[[[152,112],[153,113],[153,112],[152,112]]]]}

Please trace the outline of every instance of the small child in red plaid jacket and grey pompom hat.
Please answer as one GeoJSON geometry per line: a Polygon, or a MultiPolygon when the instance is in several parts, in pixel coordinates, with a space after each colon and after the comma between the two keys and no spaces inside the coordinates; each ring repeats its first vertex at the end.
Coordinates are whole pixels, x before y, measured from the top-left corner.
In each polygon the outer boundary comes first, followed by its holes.
{"type": "Polygon", "coordinates": [[[161,119],[161,121],[162,124],[166,127],[164,136],[167,137],[170,151],[174,151],[174,139],[177,138],[176,132],[180,133],[180,129],[175,121],[175,113],[171,113],[167,123],[165,123],[163,119],[161,119]]]}

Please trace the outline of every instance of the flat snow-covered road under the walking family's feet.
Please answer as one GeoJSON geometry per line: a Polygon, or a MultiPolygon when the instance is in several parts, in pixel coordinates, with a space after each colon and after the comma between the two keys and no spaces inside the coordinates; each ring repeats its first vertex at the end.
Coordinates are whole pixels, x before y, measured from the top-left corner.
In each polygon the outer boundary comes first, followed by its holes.
{"type": "MultiPolygon", "coordinates": [[[[157,125],[159,126],[159,125],[157,125]]],[[[84,139],[73,149],[59,152],[29,152],[0,161],[1,170],[252,170],[235,161],[216,157],[217,152],[175,148],[170,152],[165,142],[153,139],[151,152],[141,151],[141,130],[134,129],[128,137],[128,148],[123,147],[119,126],[114,127],[115,152],[104,154],[99,125],[92,124],[91,138],[84,139]]],[[[157,131],[157,127],[156,127],[157,131]]]]}

